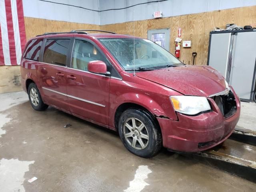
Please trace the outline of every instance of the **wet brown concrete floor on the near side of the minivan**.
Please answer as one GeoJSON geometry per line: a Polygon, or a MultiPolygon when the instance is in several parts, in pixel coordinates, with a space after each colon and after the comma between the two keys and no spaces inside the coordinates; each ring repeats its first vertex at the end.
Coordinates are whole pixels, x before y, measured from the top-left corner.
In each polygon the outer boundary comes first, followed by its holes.
{"type": "Polygon", "coordinates": [[[54,108],[37,112],[23,92],[1,94],[0,102],[0,191],[256,190],[252,182],[165,149],[151,159],[135,156],[115,132],[54,108]]]}

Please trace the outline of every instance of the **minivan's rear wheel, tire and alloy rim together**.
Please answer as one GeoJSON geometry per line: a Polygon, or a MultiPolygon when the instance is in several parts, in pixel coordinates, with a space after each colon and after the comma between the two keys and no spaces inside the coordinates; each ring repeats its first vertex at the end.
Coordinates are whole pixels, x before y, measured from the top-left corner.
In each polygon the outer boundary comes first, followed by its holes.
{"type": "Polygon", "coordinates": [[[43,111],[48,108],[48,105],[44,104],[41,94],[34,83],[30,83],[28,86],[28,98],[34,110],[43,111]]]}

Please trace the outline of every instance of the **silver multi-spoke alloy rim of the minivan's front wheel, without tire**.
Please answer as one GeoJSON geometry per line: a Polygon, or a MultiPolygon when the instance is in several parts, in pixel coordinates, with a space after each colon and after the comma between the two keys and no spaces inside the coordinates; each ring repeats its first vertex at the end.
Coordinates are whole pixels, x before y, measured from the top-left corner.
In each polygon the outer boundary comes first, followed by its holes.
{"type": "Polygon", "coordinates": [[[134,149],[146,148],[149,141],[146,126],[137,118],[129,118],[124,123],[124,137],[128,144],[134,149]]]}

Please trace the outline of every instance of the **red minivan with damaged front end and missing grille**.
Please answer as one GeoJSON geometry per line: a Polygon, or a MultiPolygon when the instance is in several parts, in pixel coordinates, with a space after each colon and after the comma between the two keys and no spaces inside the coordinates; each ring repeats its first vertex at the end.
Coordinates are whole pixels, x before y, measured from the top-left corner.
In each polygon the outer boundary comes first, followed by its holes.
{"type": "Polygon", "coordinates": [[[240,100],[219,72],[182,64],[150,40],[85,31],[46,33],[26,44],[22,86],[35,110],[52,106],[116,130],[145,158],[162,146],[206,150],[232,134],[240,100]]]}

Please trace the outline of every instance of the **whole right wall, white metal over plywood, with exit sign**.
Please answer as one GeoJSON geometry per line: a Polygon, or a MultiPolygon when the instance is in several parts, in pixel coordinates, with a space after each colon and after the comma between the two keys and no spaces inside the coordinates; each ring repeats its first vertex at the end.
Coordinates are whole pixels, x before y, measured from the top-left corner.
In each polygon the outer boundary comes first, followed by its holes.
{"type": "MultiPolygon", "coordinates": [[[[120,9],[147,0],[100,0],[100,10],[120,9]]],[[[197,52],[195,64],[206,65],[210,31],[226,24],[256,27],[256,0],[167,0],[140,4],[121,10],[100,12],[100,28],[118,34],[147,38],[148,30],[170,28],[170,52],[175,52],[175,38],[182,28],[182,40],[191,40],[191,48],[181,48],[180,60],[192,64],[192,52],[197,52]],[[164,18],[152,19],[155,11],[164,18]],[[135,24],[133,24],[135,20],[135,24]]]]}

